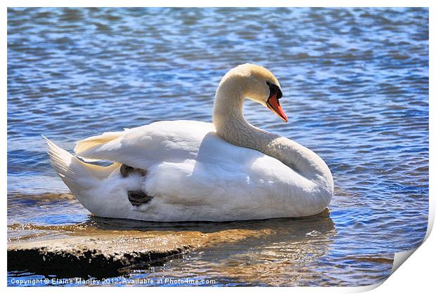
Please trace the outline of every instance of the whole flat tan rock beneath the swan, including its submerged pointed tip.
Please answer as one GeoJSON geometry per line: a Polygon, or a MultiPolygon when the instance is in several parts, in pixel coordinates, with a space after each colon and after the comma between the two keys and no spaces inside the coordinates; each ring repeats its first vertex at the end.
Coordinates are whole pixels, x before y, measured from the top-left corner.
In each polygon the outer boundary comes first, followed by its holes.
{"type": "Polygon", "coordinates": [[[160,264],[196,248],[271,234],[269,229],[143,231],[80,225],[10,229],[20,232],[24,237],[8,241],[9,271],[96,278],[117,276],[129,267],[160,264]]]}

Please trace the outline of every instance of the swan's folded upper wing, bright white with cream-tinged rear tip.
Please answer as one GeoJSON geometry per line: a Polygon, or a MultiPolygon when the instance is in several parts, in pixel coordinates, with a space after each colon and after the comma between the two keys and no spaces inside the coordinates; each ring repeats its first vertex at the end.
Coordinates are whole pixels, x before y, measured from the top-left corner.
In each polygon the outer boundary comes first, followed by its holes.
{"type": "Polygon", "coordinates": [[[85,159],[120,162],[147,169],[160,161],[195,158],[203,138],[213,131],[212,123],[159,121],[86,138],[77,142],[75,152],[85,159]]]}

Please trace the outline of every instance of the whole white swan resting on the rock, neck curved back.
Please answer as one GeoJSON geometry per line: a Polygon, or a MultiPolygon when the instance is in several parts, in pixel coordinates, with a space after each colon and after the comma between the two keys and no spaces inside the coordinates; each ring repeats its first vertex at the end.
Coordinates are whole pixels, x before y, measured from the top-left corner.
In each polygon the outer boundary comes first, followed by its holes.
{"type": "Polygon", "coordinates": [[[219,83],[212,123],[158,121],[77,142],[73,156],[49,139],[51,165],[92,214],[155,222],[262,220],[321,213],[333,177],[312,150],[252,126],[245,98],[283,121],[278,80],[238,65],[219,83]],[[98,166],[90,161],[113,162],[98,166]]]}

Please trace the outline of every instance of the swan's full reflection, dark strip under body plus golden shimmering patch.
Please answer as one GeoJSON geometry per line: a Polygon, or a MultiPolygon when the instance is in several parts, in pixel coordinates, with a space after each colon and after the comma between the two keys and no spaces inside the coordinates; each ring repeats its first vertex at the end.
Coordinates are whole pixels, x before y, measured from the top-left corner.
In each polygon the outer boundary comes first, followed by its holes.
{"type": "MultiPolygon", "coordinates": [[[[245,239],[198,248],[188,255],[167,261],[151,270],[138,267],[130,278],[215,279],[217,283],[295,286],[338,283],[334,276],[321,281],[316,262],[333,243],[335,225],[326,209],[307,218],[275,218],[236,222],[157,223],[91,217],[86,225],[101,230],[227,232],[252,231],[245,239]],[[307,266],[307,265],[315,266],[307,266]],[[189,274],[186,273],[189,265],[189,274]],[[318,276],[319,279],[316,279],[318,276]]],[[[325,274],[325,273],[324,273],[325,274]]]]}

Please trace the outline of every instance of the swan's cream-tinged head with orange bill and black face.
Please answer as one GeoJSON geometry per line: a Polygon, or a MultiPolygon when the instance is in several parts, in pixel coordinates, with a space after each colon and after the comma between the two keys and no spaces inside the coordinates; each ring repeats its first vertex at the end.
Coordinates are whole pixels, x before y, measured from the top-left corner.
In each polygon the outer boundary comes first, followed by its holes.
{"type": "Polygon", "coordinates": [[[224,76],[224,80],[238,84],[246,98],[268,107],[283,121],[288,122],[288,116],[278,101],[283,95],[280,83],[268,69],[245,63],[231,69],[224,76]]]}

